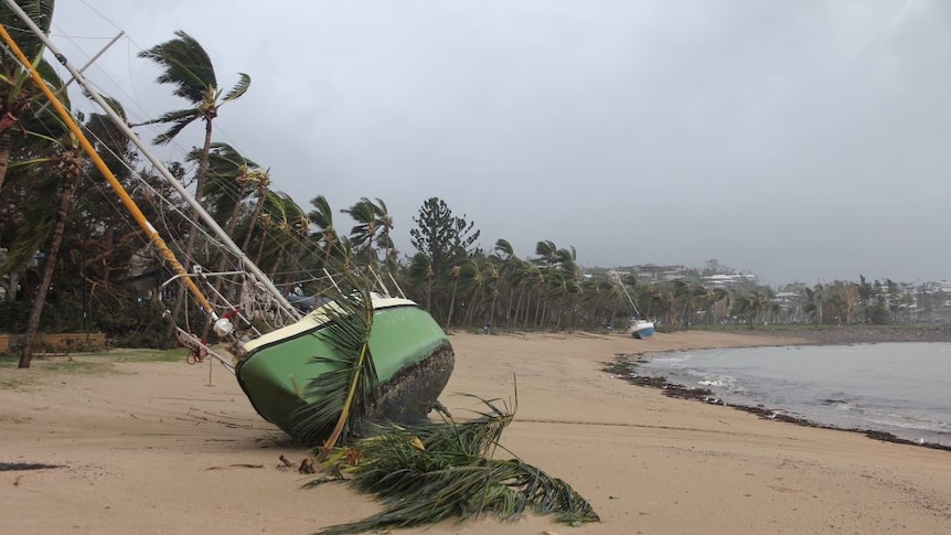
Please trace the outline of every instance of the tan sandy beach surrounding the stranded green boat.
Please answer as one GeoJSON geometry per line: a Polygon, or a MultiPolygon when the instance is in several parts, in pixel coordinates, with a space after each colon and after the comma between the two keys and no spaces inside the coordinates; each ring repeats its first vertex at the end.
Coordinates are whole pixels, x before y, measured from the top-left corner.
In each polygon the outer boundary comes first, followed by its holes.
{"type": "MultiPolygon", "coordinates": [[[[951,452],[672,399],[601,372],[617,353],[790,343],[722,332],[452,335],[442,397],[519,411],[505,446],[587,497],[601,522],[445,522],[396,533],[951,533],[951,452]],[[513,379],[515,377],[516,379],[513,379]]],[[[133,355],[135,352],[128,352],[133,355]]],[[[82,356],[115,361],[114,356],[82,356]]],[[[342,484],[302,489],[306,451],[263,421],[224,368],[116,362],[92,373],[0,368],[3,534],[306,534],[377,511],[342,484]],[[209,384],[210,372],[212,373],[209,384]]]]}

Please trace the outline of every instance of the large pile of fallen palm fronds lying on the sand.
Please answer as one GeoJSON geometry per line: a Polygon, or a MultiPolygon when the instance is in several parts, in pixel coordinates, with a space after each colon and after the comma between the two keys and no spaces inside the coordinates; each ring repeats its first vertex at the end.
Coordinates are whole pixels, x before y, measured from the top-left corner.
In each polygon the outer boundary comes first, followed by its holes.
{"type": "Polygon", "coordinates": [[[441,411],[442,422],[388,425],[380,435],[357,440],[351,447],[354,453],[335,456],[339,461],[360,459],[338,471],[351,474],[348,482],[354,489],[375,494],[384,510],[319,533],[413,527],[453,516],[461,522],[483,513],[514,521],[526,509],[571,525],[597,522],[590,503],[566,482],[517,458],[487,457],[499,447],[514,411],[484,403],[488,409],[472,421],[457,424],[441,411]]]}

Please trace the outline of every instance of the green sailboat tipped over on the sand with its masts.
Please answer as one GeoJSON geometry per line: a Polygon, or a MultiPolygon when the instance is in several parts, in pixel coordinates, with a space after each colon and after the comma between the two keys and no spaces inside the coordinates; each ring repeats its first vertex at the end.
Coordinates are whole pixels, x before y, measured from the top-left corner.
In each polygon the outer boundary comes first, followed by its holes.
{"type": "MultiPolygon", "coordinates": [[[[336,279],[325,274],[335,291],[322,299],[322,304],[316,309],[301,312],[288,300],[286,292],[279,290],[232,240],[191,192],[171,175],[95,86],[86,82],[83,74],[56,50],[15,2],[4,2],[191,205],[201,220],[194,222],[195,226],[203,224],[216,236],[225,252],[236,258],[236,265],[241,268],[237,271],[209,272],[200,266],[186,270],[96,153],[68,110],[60,104],[35,69],[29,68],[30,62],[19,51],[6,28],[0,25],[0,36],[11,51],[18,53],[24,67],[31,71],[34,82],[76,135],[96,168],[106,176],[124,206],[148,236],[150,245],[174,274],[162,285],[163,288],[171,283],[184,283],[190,296],[207,314],[218,343],[206,343],[196,334],[175,325],[182,345],[189,347],[193,355],[212,357],[234,373],[257,413],[301,441],[316,443],[329,438],[332,432],[339,431],[331,429],[331,424],[338,417],[341,422],[345,419],[349,427],[363,418],[402,424],[426,418],[427,411],[438,403],[455,363],[452,346],[446,333],[428,312],[403,296],[402,291],[398,297],[392,296],[380,277],[368,268],[344,270],[336,279]],[[241,302],[231,302],[213,282],[215,277],[239,279],[248,291],[239,295],[241,302]],[[345,280],[349,290],[344,292],[336,288],[336,280],[345,280]],[[373,291],[367,288],[370,285],[375,287],[373,291]],[[366,332],[362,334],[363,343],[357,345],[359,355],[355,356],[348,354],[340,336],[334,334],[334,327],[348,323],[355,313],[356,309],[346,306],[351,300],[366,311],[366,318],[360,323],[366,332]],[[263,328],[264,324],[268,328],[263,328]],[[362,364],[353,365],[351,356],[354,360],[359,357],[362,364]],[[351,382],[353,385],[364,382],[362,384],[370,384],[374,389],[367,396],[371,403],[361,407],[355,415],[350,414],[352,395],[342,398],[340,392],[327,387],[328,381],[324,381],[346,374],[354,376],[351,382]],[[372,379],[368,383],[367,375],[372,379]],[[301,418],[313,414],[321,415],[323,419],[320,421],[324,422],[317,432],[312,425],[301,426],[301,418]],[[307,432],[302,434],[301,428],[307,428],[307,432]]],[[[172,317],[169,311],[165,314],[172,317]]]]}

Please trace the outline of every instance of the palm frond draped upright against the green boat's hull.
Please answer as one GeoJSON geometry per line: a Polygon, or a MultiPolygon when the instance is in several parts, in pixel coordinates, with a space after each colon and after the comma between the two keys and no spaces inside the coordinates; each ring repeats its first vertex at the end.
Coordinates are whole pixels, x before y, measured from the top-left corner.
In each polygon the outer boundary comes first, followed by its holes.
{"type": "MultiPolygon", "coordinates": [[[[354,282],[354,281],[351,281],[354,282]]],[[[312,362],[333,366],[333,372],[311,379],[303,388],[304,402],[291,418],[293,438],[303,443],[324,440],[321,459],[346,438],[376,400],[378,378],[370,351],[373,303],[367,285],[355,282],[352,293],[338,292],[324,307],[328,327],[314,333],[333,354],[314,355],[312,362]]]]}

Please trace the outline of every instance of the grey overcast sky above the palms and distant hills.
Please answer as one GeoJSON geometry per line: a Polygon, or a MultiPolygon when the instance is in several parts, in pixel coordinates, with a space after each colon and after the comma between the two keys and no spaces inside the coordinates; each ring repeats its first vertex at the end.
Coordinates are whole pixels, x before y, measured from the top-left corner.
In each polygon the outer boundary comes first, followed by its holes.
{"type": "Polygon", "coordinates": [[[56,2],[76,65],[119,30],[87,76],[130,116],[185,106],[137,57],[184,30],[253,79],[215,139],[306,210],[384,200],[404,254],[438,196],[521,257],[951,278],[949,2],[56,2]]]}

